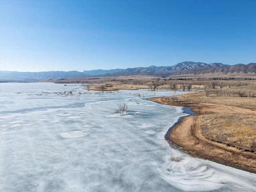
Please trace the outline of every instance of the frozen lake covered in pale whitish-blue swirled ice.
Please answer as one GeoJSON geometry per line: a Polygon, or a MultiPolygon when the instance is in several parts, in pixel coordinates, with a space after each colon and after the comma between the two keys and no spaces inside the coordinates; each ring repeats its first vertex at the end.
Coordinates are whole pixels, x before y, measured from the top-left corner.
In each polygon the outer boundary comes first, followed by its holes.
{"type": "Polygon", "coordinates": [[[256,174],[192,157],[164,139],[186,114],[146,98],[181,93],[1,83],[0,191],[256,191],[256,174]],[[55,93],[64,91],[74,95],[55,93]],[[115,114],[124,103],[129,112],[115,114]],[[183,160],[170,160],[177,156],[183,160]]]}

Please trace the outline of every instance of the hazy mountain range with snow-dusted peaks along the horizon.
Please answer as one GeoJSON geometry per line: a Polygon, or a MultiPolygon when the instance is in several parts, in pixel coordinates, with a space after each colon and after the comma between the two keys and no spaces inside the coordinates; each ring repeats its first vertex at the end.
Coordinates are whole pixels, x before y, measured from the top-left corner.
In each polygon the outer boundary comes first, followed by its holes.
{"type": "Polygon", "coordinates": [[[136,67],[126,69],[112,70],[84,70],[78,71],[49,71],[49,72],[17,72],[17,71],[0,71],[0,80],[26,80],[39,81],[56,78],[81,78],[88,76],[132,76],[132,75],[150,75],[162,78],[172,76],[200,76],[200,75],[230,75],[237,76],[238,74],[246,76],[256,76],[256,63],[224,65],[222,63],[202,63],[185,61],[174,66],[149,66],[136,67]]]}

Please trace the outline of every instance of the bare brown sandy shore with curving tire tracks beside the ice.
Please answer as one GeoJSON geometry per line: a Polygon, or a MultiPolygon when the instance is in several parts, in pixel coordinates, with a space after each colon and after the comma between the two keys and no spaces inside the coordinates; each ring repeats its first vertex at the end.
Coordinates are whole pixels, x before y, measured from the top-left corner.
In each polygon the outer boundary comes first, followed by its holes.
{"type": "Polygon", "coordinates": [[[235,147],[208,140],[202,135],[200,128],[201,116],[203,114],[248,114],[256,116],[256,111],[210,103],[175,103],[166,97],[150,98],[149,100],[160,104],[197,107],[192,109],[192,111],[198,114],[197,116],[185,117],[180,124],[172,129],[169,137],[171,142],[178,144],[184,150],[195,156],[256,173],[255,152],[246,152],[235,147]]]}

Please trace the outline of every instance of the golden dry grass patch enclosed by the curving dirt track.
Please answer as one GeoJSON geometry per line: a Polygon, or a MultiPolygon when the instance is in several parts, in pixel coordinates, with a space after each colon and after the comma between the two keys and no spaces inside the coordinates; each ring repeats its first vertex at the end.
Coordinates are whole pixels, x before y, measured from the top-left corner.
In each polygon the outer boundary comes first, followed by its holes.
{"type": "Polygon", "coordinates": [[[237,148],[256,151],[256,116],[242,114],[210,114],[202,116],[202,134],[237,148]]]}

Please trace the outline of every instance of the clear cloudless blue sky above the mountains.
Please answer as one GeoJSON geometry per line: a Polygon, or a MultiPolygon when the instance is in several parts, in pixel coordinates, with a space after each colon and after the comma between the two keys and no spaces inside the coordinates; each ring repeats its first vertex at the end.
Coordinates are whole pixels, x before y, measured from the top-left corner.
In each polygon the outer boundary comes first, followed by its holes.
{"type": "Polygon", "coordinates": [[[256,62],[254,0],[0,0],[0,70],[256,62]]]}

